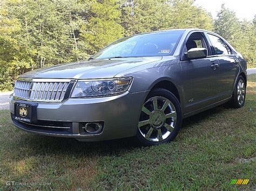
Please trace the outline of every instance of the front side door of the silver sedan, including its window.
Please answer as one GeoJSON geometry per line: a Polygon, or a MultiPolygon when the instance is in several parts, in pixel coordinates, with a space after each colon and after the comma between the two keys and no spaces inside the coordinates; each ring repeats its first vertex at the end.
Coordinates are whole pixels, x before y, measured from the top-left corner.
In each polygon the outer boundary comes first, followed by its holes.
{"type": "Polygon", "coordinates": [[[219,60],[212,51],[204,32],[193,32],[187,37],[183,52],[190,48],[203,47],[207,49],[207,58],[187,60],[181,58],[181,79],[183,80],[185,113],[203,108],[217,102],[220,93],[219,60]]]}

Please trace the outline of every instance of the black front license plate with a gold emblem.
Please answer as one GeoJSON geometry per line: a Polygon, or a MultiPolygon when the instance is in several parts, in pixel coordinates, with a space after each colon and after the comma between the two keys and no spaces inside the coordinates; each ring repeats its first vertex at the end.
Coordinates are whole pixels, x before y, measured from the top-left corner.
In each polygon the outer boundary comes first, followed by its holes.
{"type": "Polygon", "coordinates": [[[15,119],[19,121],[32,121],[32,105],[26,103],[15,103],[15,119]]]}

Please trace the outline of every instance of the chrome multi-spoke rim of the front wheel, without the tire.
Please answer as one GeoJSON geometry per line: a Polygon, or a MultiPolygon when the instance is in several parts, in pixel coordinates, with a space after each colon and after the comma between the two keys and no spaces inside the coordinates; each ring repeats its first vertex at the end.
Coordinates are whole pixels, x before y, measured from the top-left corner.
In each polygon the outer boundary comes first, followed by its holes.
{"type": "Polygon", "coordinates": [[[140,114],[140,134],[151,142],[160,142],[171,135],[177,120],[173,103],[165,97],[155,96],[147,100],[140,114]]]}

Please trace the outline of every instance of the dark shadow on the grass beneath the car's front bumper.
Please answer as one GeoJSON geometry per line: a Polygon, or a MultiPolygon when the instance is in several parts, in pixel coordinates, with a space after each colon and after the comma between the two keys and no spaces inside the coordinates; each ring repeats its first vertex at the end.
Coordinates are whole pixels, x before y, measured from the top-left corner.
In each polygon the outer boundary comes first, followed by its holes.
{"type": "Polygon", "coordinates": [[[26,135],[25,147],[31,154],[39,155],[119,155],[121,150],[133,150],[140,144],[135,137],[106,140],[101,142],[78,142],[73,138],[48,137],[40,135],[26,135]]]}

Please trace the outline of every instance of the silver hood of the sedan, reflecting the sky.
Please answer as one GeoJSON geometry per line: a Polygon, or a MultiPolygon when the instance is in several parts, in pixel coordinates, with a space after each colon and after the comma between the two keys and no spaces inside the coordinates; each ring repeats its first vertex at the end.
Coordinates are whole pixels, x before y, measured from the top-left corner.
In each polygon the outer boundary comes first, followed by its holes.
{"type": "Polygon", "coordinates": [[[56,65],[50,68],[32,70],[19,77],[57,79],[99,79],[114,77],[134,67],[161,60],[157,57],[96,59],[56,65]]]}

